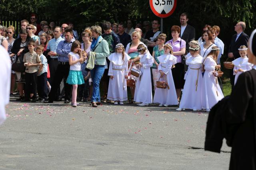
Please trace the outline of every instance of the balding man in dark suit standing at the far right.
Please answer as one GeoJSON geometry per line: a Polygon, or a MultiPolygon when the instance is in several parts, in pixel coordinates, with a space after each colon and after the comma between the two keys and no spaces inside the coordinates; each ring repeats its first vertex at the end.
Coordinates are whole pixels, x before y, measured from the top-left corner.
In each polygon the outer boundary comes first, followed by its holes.
{"type": "MultiPolygon", "coordinates": [[[[238,49],[241,45],[246,45],[247,47],[247,42],[249,37],[246,33],[244,33],[245,27],[246,25],[242,21],[238,22],[235,25],[236,34],[232,36],[231,43],[228,49],[228,57],[233,60],[240,57],[238,49]]],[[[235,80],[235,76],[233,75],[233,69],[231,69],[230,84],[232,85],[232,89],[234,87],[234,80],[235,80]]]]}

